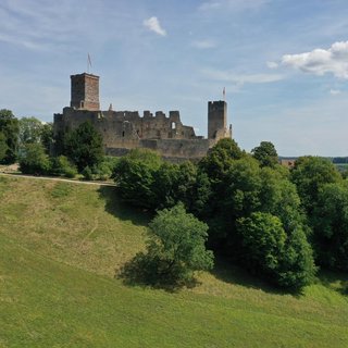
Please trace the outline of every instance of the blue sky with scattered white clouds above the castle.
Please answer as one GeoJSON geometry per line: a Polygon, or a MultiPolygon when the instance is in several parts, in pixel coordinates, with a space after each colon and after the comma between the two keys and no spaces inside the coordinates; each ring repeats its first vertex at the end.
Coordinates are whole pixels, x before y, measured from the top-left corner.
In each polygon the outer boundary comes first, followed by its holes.
{"type": "Polygon", "coordinates": [[[102,109],[179,110],[206,136],[225,87],[241,148],[348,156],[347,0],[1,0],[0,108],[52,121],[88,52],[102,109]]]}

